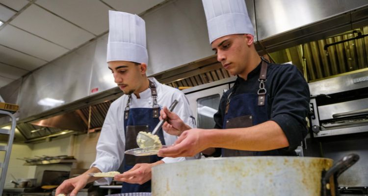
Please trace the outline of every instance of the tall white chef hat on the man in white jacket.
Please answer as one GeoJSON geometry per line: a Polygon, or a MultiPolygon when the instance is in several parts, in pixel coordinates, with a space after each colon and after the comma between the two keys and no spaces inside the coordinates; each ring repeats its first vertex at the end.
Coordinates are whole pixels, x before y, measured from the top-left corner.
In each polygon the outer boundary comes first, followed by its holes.
{"type": "Polygon", "coordinates": [[[126,12],[108,11],[107,62],[148,63],[146,27],[142,18],[126,12]]]}

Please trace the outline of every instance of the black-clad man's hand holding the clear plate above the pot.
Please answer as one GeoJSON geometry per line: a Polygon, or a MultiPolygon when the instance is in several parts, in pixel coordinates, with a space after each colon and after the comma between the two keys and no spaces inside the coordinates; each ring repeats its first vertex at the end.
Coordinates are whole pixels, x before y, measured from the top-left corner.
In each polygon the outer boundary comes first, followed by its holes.
{"type": "Polygon", "coordinates": [[[167,148],[161,148],[158,156],[161,157],[188,157],[194,156],[198,152],[207,149],[208,141],[205,136],[208,129],[190,129],[184,131],[182,135],[175,141],[174,145],[167,148]]]}

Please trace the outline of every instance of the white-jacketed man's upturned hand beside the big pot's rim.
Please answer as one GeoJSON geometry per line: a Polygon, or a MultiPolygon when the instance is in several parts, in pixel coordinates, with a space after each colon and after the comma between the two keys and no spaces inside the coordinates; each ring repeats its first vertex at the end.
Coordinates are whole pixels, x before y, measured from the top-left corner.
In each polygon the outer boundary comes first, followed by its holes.
{"type": "Polygon", "coordinates": [[[128,182],[131,184],[143,184],[151,179],[151,168],[155,165],[162,164],[163,161],[156,163],[139,163],[136,164],[129,171],[122,174],[115,175],[114,180],[128,182]]]}

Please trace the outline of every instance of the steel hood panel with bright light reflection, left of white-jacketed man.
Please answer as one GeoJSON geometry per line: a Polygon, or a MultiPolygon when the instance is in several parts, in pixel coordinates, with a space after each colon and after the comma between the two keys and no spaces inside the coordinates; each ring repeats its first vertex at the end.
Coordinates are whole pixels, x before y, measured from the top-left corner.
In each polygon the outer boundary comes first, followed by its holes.
{"type": "Polygon", "coordinates": [[[96,42],[61,57],[27,75],[22,83],[20,119],[25,119],[89,95],[96,42]]]}

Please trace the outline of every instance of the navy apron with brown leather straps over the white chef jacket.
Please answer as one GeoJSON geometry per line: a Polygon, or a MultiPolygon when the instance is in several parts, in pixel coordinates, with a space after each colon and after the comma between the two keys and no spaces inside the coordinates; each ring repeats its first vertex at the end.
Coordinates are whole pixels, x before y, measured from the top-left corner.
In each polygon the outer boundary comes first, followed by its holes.
{"type": "MultiPolygon", "coordinates": [[[[159,122],[158,116],[160,107],[157,103],[157,91],[155,84],[150,81],[150,89],[153,98],[153,108],[130,108],[129,101],[125,108],[124,114],[124,126],[125,126],[125,150],[137,148],[136,137],[139,131],[152,132],[159,122]]],[[[165,145],[163,139],[163,132],[160,129],[157,133],[162,145],[165,145]]],[[[124,172],[130,170],[137,163],[155,163],[161,160],[162,157],[157,155],[151,156],[134,156],[125,154],[124,157],[124,172]]],[[[130,184],[123,182],[121,193],[140,193],[140,192],[151,192],[151,180],[146,183],[130,184]]]]}

